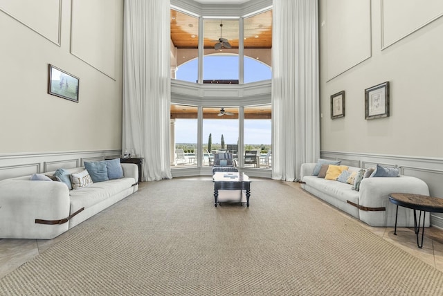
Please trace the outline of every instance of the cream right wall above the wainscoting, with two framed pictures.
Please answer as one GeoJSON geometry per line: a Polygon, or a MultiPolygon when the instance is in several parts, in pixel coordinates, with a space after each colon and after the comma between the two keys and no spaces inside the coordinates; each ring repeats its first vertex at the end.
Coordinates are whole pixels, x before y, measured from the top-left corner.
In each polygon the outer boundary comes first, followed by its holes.
{"type": "Polygon", "coordinates": [[[357,2],[320,0],[321,150],[442,158],[443,2],[357,2]],[[365,89],[386,81],[390,117],[365,120],[365,89]]]}

